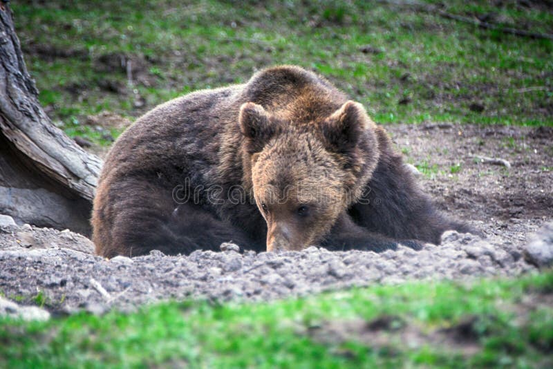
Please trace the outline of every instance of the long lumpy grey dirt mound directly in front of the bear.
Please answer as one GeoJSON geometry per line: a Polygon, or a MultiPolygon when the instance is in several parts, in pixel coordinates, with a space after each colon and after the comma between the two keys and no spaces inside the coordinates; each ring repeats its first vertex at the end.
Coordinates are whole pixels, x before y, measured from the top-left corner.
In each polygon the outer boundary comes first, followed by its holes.
{"type": "Polygon", "coordinates": [[[148,256],[106,260],[88,254],[89,241],[71,232],[34,229],[48,237],[71,237],[70,244],[50,240],[35,247],[10,242],[21,228],[0,228],[0,290],[25,303],[36,301],[40,293],[52,312],[126,310],[188,296],[261,301],[372,283],[517,275],[535,270],[522,257],[520,245],[488,242],[455,231],[444,234],[442,245],[427,244],[418,252],[408,247],[381,254],[310,247],[302,252],[260,254],[196,251],[189,256],[154,251],[148,256]]]}

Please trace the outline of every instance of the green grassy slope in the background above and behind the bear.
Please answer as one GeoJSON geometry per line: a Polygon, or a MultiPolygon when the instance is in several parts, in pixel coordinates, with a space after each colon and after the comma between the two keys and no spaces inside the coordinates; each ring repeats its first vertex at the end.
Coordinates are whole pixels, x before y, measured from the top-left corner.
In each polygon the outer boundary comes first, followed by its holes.
{"type": "MultiPolygon", "coordinates": [[[[448,1],[447,10],[493,13],[496,23],[553,33],[550,11],[481,3],[448,1]]],[[[82,126],[86,115],[137,116],[188,91],[245,82],[271,64],[318,70],[380,123],[553,125],[550,40],[364,1],[67,4],[15,1],[12,8],[41,102],[70,135],[100,140],[82,126]],[[130,57],[146,82],[127,86],[124,68],[102,64],[106,55],[130,57]],[[135,108],[138,95],[146,104],[135,108]],[[473,103],[484,111],[471,111],[473,103]]]]}

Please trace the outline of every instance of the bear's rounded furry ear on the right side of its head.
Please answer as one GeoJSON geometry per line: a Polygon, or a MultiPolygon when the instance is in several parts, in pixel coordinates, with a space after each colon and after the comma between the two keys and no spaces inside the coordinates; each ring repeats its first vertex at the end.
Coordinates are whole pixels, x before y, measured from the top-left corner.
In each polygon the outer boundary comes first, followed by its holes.
{"type": "Polygon", "coordinates": [[[326,118],[321,128],[328,149],[345,153],[355,148],[367,125],[365,108],[349,100],[326,118]]]}

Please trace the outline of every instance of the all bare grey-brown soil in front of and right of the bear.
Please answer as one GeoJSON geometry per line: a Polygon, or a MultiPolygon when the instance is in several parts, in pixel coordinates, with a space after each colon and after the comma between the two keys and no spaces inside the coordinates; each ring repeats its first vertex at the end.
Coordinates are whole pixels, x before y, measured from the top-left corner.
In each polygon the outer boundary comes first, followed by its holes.
{"type": "MultiPolygon", "coordinates": [[[[422,185],[440,207],[469,221],[484,238],[450,231],[442,245],[427,244],[420,252],[310,247],[280,254],[152,252],[107,261],[93,256],[90,240],[72,232],[6,226],[0,227],[0,291],[24,303],[35,303],[40,292],[54,313],[104,312],[188,296],[259,301],[414,278],[516,276],[537,270],[524,250],[527,236],[553,220],[553,129],[449,124],[386,128],[406,162],[422,171],[422,185]],[[507,160],[510,167],[477,156],[507,160]]],[[[403,332],[418,334],[411,327],[403,332]]]]}

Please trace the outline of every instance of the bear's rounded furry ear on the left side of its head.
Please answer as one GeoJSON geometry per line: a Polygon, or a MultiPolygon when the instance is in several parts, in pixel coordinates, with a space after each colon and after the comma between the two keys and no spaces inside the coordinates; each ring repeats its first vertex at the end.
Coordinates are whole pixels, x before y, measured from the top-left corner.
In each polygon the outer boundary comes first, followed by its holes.
{"type": "Polygon", "coordinates": [[[261,151],[274,134],[275,127],[270,122],[269,113],[263,106],[253,102],[241,106],[238,122],[241,133],[248,139],[248,151],[251,153],[261,151]]]}

